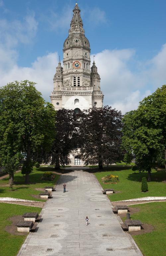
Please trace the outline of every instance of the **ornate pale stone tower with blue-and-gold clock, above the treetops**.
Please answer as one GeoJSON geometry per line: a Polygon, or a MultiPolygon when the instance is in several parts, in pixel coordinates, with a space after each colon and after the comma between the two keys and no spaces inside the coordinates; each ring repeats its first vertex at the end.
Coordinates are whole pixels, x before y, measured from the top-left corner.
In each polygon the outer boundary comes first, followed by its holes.
{"type": "Polygon", "coordinates": [[[53,84],[50,99],[56,110],[66,108],[77,112],[79,109],[103,106],[100,75],[94,61],[90,69],[90,44],[85,37],[77,3],[69,35],[63,44],[63,68],[59,59],[53,84]]]}

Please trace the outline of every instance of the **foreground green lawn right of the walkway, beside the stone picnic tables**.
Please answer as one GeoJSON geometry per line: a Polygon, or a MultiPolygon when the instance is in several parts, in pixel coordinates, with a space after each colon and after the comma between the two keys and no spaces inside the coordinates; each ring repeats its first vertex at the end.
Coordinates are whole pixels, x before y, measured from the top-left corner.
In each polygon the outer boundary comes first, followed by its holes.
{"type": "Polygon", "coordinates": [[[140,212],[131,215],[131,219],[140,220],[142,223],[147,223],[154,227],[154,230],[150,233],[132,236],[143,255],[166,255],[166,202],[153,202],[130,207],[140,209],[140,212]]]}

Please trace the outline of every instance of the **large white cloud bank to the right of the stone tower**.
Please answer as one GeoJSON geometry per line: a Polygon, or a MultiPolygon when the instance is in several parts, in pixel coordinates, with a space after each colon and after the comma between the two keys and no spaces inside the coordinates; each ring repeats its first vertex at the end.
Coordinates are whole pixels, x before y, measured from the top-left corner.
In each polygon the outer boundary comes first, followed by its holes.
{"type": "Polygon", "coordinates": [[[132,49],[104,50],[95,54],[104,104],[123,113],[136,109],[139,101],[166,84],[166,44],[151,60],[138,63],[139,68],[134,54],[132,49]],[[132,71],[132,65],[136,71],[132,71]]]}

